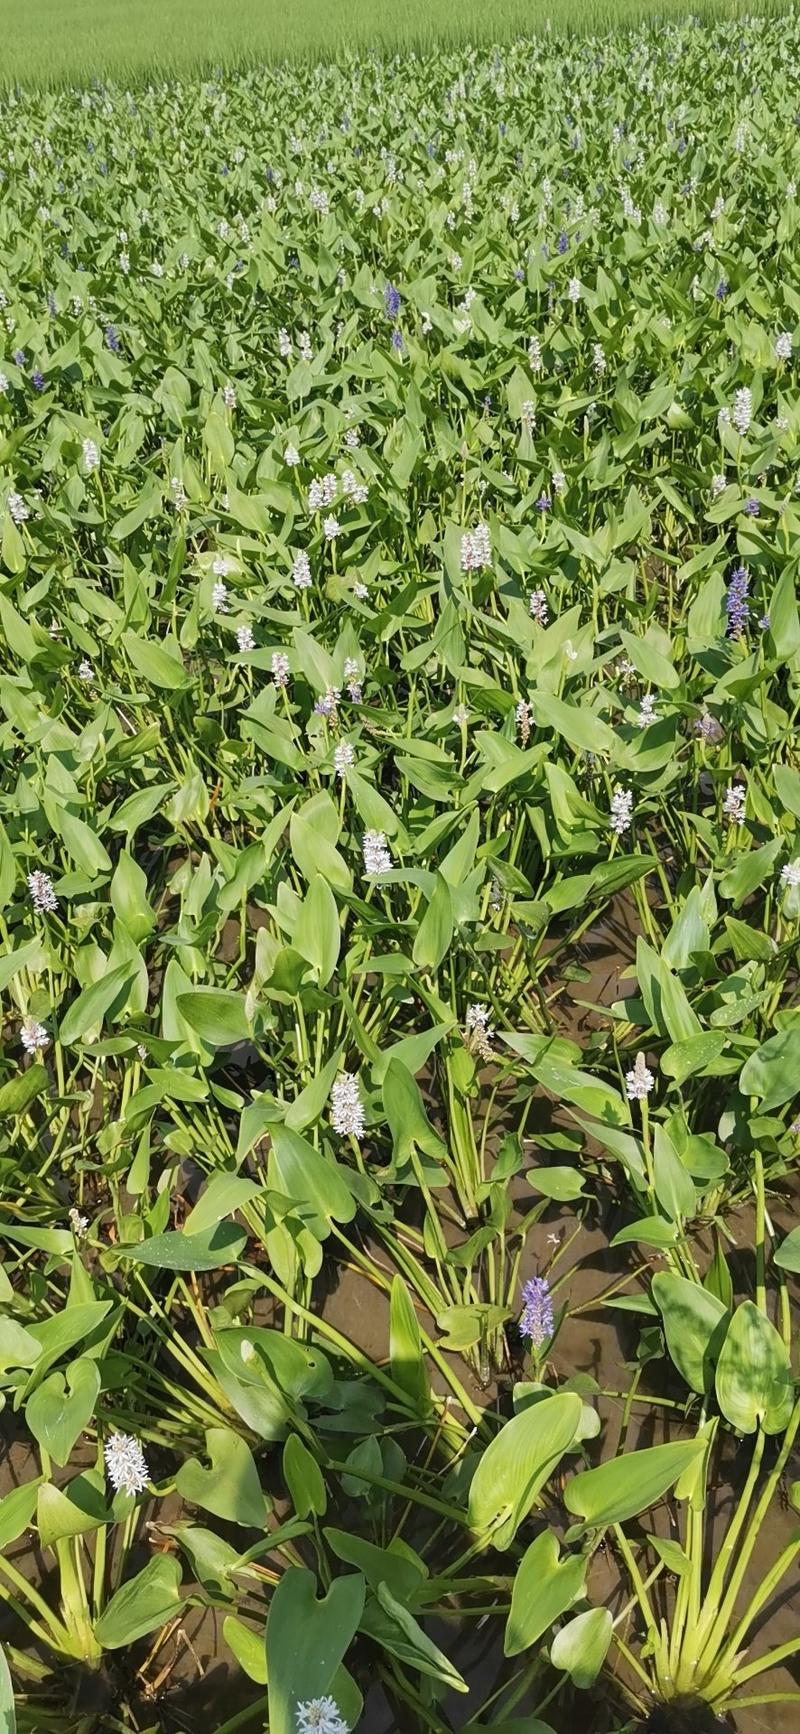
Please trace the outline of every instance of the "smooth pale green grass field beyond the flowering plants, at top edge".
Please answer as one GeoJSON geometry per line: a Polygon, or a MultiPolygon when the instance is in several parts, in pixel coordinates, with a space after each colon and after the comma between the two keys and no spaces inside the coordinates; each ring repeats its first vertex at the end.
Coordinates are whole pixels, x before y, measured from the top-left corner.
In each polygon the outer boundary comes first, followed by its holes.
{"type": "MultiPolygon", "coordinates": [[[[715,17],[751,7],[703,0],[715,17]]],[[[347,50],[488,42],[538,29],[606,31],[685,16],[685,0],[5,0],[0,83],[163,78],[347,50]]]]}

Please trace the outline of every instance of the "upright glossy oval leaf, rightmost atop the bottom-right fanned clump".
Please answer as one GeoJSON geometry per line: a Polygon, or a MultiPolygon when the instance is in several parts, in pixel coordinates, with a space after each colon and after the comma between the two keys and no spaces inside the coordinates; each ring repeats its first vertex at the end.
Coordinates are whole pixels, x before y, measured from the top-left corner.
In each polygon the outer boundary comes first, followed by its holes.
{"type": "Polygon", "coordinates": [[[783,1432],[793,1406],[793,1379],[786,1344],[769,1318],[743,1300],[731,1320],[717,1361],[717,1403],[732,1427],[783,1432]]]}

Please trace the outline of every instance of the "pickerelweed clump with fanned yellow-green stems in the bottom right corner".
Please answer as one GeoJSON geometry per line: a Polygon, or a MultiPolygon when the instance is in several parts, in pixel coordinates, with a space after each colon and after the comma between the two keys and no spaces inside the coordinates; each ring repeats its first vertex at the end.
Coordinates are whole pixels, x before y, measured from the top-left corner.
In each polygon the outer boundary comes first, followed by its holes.
{"type": "MultiPolygon", "coordinates": [[[[652,1278],[654,1311],[666,1351],[694,1394],[698,1411],[692,1457],[675,1481],[677,1538],[656,1531],[632,1538],[621,1510],[607,1512],[611,1481],[623,1465],[635,1488],[647,1455],[665,1458],[675,1446],[633,1453],[578,1477],[567,1488],[567,1505],[595,1529],[613,1528],[614,1545],[633,1590],[642,1621],[637,1649],[614,1625],[614,1640],[630,1670],[630,1685],[644,1705],[651,1698],[684,1706],[706,1703],[717,1713],[741,1705],[798,1703],[797,1691],[750,1691],[764,1673],[795,1656],[798,1639],[767,1644],[755,1659],[750,1646],[769,1618],[777,1588],[800,1554],[800,1535],[788,1536],[753,1585],[751,1561],[770,1507],[781,1498],[783,1477],[800,1427],[800,1399],[791,1372],[791,1318],[784,1271],[797,1266],[795,1240],[774,1254],[777,1285],[767,1290],[767,1214],[764,1170],[757,1165],[757,1287],[753,1300],[734,1302],[725,1259],[717,1254],[703,1283],[668,1271],[652,1278]],[[777,1325],[770,1311],[777,1313],[777,1325]],[[741,1488],[732,1512],[715,1510],[720,1427],[732,1429],[736,1457],[743,1458],[741,1488]],[[746,1465],[746,1467],[744,1467],[746,1465]],[[656,1559],[654,1568],[644,1564],[656,1559]],[[666,1580],[677,1580],[673,1594],[666,1580]],[[658,1587],[656,1587],[658,1585],[658,1587]],[[644,1698],[642,1698],[644,1687],[644,1698]]],[[[639,1488],[642,1491],[642,1488],[639,1488]]],[[[611,1498],[613,1503],[613,1498],[611,1498]]],[[[647,1498],[647,1503],[651,1500],[647,1498]]],[[[637,1516],[633,1502],[626,1516],[637,1516]]],[[[630,1606],[628,1609],[630,1611],[630,1606]]],[[[767,1626],[769,1632],[769,1626],[767,1626]]]]}

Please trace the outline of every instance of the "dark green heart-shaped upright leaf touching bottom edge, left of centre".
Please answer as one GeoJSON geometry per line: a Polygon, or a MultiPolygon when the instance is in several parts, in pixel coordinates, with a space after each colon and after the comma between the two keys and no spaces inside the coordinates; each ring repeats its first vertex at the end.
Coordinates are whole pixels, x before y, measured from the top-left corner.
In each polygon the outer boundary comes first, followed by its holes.
{"type": "Polygon", "coordinates": [[[292,1566],[272,1590],[267,1618],[269,1734],[297,1734],[297,1705],[326,1698],[364,1611],[359,1571],[335,1578],[318,1600],[316,1578],[292,1566]]]}

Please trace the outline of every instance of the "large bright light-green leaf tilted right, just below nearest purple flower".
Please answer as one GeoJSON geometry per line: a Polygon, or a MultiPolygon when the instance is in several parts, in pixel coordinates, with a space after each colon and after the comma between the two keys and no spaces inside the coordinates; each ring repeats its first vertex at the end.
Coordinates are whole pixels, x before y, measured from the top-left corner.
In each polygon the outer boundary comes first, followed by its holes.
{"type": "Polygon", "coordinates": [[[469,1491],[470,1528],[484,1545],[510,1547],[580,1422],[581,1399],[574,1392],[545,1398],[505,1422],[482,1453],[469,1491]]]}

